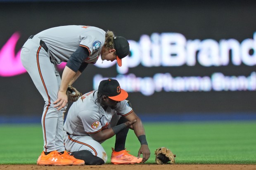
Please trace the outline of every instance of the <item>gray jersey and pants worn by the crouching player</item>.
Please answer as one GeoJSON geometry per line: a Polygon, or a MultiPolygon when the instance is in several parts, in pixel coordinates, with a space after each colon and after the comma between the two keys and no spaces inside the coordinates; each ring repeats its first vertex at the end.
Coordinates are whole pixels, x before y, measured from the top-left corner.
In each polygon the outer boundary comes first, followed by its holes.
{"type": "Polygon", "coordinates": [[[98,91],[91,91],[74,102],[64,123],[64,142],[67,151],[88,150],[107,162],[107,154],[100,143],[90,137],[91,133],[116,126],[121,116],[133,112],[127,100],[117,104],[116,109],[108,107],[106,111],[95,102],[98,91]],[[68,134],[67,134],[67,133],[68,134]]]}

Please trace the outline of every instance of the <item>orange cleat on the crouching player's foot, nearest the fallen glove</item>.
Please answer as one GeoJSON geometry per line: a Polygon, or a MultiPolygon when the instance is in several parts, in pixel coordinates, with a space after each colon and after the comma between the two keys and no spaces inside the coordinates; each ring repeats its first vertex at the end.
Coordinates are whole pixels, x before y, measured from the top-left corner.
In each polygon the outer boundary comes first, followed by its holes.
{"type": "Polygon", "coordinates": [[[111,163],[118,165],[118,164],[134,164],[134,163],[141,163],[142,158],[137,158],[131,154],[128,154],[130,151],[122,150],[119,152],[114,151],[112,148],[111,154],[111,163]]]}

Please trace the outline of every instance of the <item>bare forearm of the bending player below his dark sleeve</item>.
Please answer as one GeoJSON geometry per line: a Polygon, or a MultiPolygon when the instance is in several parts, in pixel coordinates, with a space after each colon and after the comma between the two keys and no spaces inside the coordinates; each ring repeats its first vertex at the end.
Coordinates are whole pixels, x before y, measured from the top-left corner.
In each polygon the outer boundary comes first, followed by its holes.
{"type": "Polygon", "coordinates": [[[66,66],[62,73],[62,82],[60,84],[59,91],[66,93],[66,90],[71,82],[71,79],[73,79],[75,75],[76,75],[76,72],[74,72],[73,70],[71,70],[69,67],[66,66]]]}

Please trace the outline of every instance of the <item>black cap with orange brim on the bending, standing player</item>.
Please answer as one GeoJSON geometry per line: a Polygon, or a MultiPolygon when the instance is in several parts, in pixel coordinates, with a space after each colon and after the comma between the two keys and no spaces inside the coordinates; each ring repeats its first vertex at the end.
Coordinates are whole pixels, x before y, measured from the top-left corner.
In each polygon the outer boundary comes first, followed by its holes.
{"type": "Polygon", "coordinates": [[[130,46],[126,38],[121,36],[116,36],[113,38],[114,49],[116,50],[116,61],[117,64],[122,66],[122,58],[128,56],[130,52],[130,46]]]}

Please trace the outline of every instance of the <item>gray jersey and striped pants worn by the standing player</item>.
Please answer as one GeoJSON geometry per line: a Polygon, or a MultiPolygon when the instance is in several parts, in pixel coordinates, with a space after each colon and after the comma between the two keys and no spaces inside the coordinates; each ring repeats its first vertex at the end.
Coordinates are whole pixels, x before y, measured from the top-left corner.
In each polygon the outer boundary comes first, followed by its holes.
{"type": "Polygon", "coordinates": [[[41,120],[45,152],[65,150],[63,114],[66,107],[58,111],[53,104],[58,98],[61,84],[55,63],[67,62],[79,46],[89,50],[85,62],[96,63],[104,43],[105,31],[100,28],[60,26],[30,37],[21,48],[22,65],[45,100],[41,120]],[[41,41],[44,41],[47,47],[43,47],[41,41]]]}

